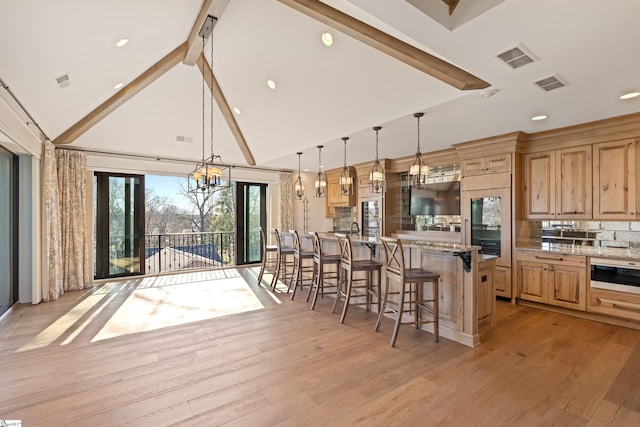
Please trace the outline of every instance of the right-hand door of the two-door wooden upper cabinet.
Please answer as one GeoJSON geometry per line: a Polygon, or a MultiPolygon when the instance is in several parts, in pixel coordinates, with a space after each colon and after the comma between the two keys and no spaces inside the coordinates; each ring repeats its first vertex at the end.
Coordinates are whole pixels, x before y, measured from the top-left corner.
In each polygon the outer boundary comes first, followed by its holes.
{"type": "Polygon", "coordinates": [[[591,146],[556,151],[556,218],[590,219],[591,146]]]}

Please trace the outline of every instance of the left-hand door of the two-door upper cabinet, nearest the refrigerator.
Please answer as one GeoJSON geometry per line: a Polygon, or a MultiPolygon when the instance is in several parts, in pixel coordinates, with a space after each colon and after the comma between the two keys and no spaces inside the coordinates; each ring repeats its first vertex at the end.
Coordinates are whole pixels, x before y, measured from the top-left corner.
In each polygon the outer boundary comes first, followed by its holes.
{"type": "Polygon", "coordinates": [[[555,156],[552,152],[527,154],[524,162],[524,216],[555,217],[555,156]]]}

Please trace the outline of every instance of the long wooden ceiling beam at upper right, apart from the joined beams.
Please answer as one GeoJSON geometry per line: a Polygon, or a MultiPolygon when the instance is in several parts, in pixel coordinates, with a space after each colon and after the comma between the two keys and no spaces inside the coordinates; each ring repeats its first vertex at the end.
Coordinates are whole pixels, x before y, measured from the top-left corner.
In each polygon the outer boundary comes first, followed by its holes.
{"type": "Polygon", "coordinates": [[[342,13],[321,1],[278,1],[457,89],[484,89],[490,86],[489,83],[473,74],[342,13]]]}

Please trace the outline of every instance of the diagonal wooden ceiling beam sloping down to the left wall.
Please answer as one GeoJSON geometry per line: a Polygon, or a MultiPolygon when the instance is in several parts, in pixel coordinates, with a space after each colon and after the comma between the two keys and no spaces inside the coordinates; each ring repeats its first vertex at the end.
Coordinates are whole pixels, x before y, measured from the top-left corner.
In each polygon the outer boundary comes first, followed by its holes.
{"type": "Polygon", "coordinates": [[[111,114],[116,108],[133,98],[142,89],[153,83],[158,77],[169,71],[175,65],[179,64],[184,58],[187,50],[187,44],[183,43],[175,48],[171,53],[156,62],[147,71],[139,75],[134,81],[123,87],[107,99],[95,110],[80,119],[78,123],[62,132],[53,142],[54,144],[70,144],[80,135],[88,131],[93,125],[111,114]]]}

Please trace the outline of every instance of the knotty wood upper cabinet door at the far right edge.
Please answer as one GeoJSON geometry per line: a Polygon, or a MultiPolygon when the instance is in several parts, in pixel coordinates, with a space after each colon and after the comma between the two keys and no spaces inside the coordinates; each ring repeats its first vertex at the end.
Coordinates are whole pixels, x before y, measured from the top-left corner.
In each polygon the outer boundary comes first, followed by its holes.
{"type": "Polygon", "coordinates": [[[636,217],[636,143],[593,146],[593,219],[636,217]]]}

